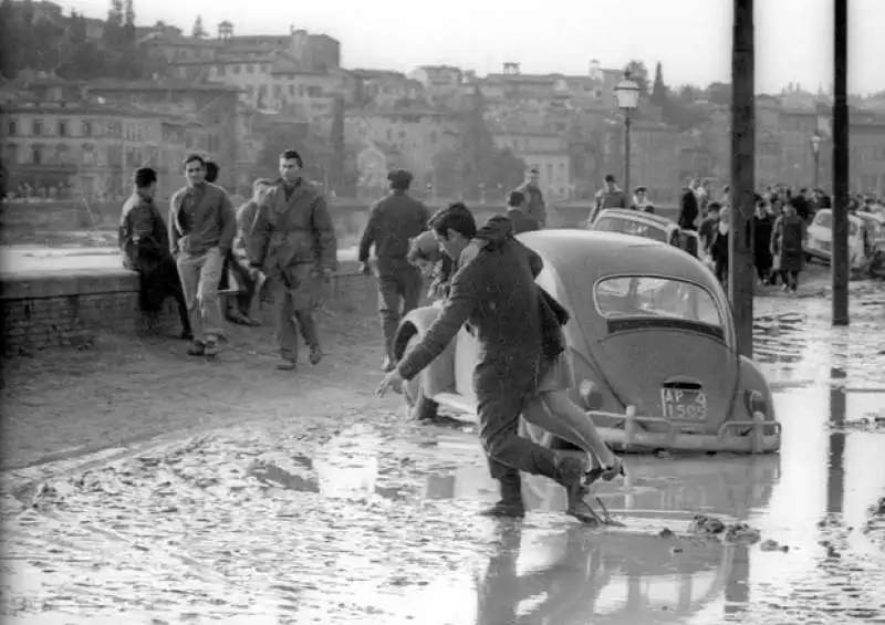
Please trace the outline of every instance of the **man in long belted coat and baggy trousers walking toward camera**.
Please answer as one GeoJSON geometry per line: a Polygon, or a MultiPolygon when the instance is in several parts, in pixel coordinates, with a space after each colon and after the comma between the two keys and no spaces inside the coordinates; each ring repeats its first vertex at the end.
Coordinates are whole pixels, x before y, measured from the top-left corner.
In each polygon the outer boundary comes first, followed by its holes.
{"type": "Polygon", "coordinates": [[[281,179],[258,206],[249,237],[249,258],[261,269],[273,291],[273,316],[282,362],[280,371],[294,371],[298,334],[310,348],[309,361],[323,358],[313,319],[320,282],[325,284],[337,262],[335,228],[325,198],[303,177],[301,155],[280,155],[281,179]]]}

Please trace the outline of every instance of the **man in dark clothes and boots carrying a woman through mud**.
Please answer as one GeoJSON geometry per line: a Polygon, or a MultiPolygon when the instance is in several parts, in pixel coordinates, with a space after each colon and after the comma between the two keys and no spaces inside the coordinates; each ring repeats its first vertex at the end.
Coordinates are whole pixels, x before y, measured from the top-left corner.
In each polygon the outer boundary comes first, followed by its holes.
{"type": "MultiPolygon", "coordinates": [[[[451,208],[437,212],[430,227],[446,254],[460,259],[477,228],[472,215],[451,208]]],[[[383,395],[388,388],[398,388],[404,379],[417,376],[446,350],[461,325],[469,323],[478,343],[473,392],[479,436],[490,472],[501,486],[501,501],[488,514],[523,513],[517,471],[525,471],[565,487],[569,513],[595,523],[596,515],[592,510],[587,512],[582,501],[584,462],[573,456],[560,456],[518,434],[522,408],[538,394],[542,376],[543,322],[533,264],[542,264],[538,254],[509,242],[493,252],[483,248],[460,264],[439,316],[387,374],[377,393],[383,395]]]]}

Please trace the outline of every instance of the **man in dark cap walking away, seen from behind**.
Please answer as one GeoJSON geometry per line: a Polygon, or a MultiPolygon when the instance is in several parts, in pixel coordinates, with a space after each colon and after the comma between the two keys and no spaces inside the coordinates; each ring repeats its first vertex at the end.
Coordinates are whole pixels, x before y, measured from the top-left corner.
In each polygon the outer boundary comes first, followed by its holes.
{"type": "Polygon", "coordinates": [[[360,262],[369,274],[368,254],[375,246],[378,278],[378,313],[384,331],[384,371],[396,366],[394,336],[399,320],[418,305],[421,295],[420,270],[408,261],[410,240],[427,230],[430,215],[427,207],[409,197],[412,174],[391,171],[391,194],[369,209],[368,223],[360,239],[360,262]]]}

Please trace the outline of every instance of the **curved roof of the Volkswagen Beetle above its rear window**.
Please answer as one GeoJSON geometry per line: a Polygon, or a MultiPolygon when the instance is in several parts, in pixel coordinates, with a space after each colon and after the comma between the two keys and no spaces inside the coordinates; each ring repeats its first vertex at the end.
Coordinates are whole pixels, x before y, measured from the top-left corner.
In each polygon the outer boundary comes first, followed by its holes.
{"type": "Polygon", "coordinates": [[[667,243],[597,230],[549,229],[523,232],[523,243],[543,256],[561,274],[584,274],[584,280],[617,274],[674,275],[712,289],[716,278],[688,252],[667,243]],[[589,269],[595,275],[589,275],[589,269]]]}

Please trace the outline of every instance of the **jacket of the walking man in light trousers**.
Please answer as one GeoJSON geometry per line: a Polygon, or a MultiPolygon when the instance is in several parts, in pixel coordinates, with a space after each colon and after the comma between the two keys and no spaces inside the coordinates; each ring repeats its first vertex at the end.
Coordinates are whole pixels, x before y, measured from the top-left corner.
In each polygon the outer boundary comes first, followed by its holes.
{"type": "Polygon", "coordinates": [[[210,183],[179,189],[169,201],[168,232],[173,253],[201,254],[219,248],[227,256],[237,233],[228,194],[210,183]]]}

